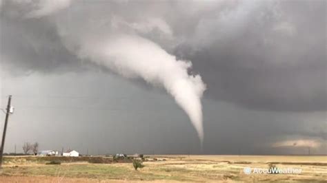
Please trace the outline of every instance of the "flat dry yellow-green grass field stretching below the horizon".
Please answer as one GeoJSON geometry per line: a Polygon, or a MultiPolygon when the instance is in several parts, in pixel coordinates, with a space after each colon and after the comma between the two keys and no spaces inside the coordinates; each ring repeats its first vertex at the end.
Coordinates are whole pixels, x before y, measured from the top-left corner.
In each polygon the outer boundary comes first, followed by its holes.
{"type": "Polygon", "coordinates": [[[135,171],[130,161],[90,157],[6,157],[0,182],[324,182],[325,156],[155,155],[135,171]],[[56,159],[57,158],[57,159],[56,159]],[[154,160],[157,158],[157,160],[154,160]],[[60,165],[46,165],[60,160],[60,165]],[[97,163],[91,163],[97,162],[97,163]],[[246,175],[244,167],[302,169],[299,174],[246,175]]]}

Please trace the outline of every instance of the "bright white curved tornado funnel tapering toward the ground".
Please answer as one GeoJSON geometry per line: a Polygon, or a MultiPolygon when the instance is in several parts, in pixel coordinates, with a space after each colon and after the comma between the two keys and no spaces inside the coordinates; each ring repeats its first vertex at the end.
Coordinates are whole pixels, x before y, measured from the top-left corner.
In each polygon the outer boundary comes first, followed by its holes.
{"type": "Polygon", "coordinates": [[[201,97],[206,85],[199,74],[188,74],[190,61],[177,60],[156,43],[136,35],[115,35],[105,40],[88,40],[81,44],[81,58],[108,67],[126,78],[143,78],[162,86],[175,98],[204,141],[201,97]]]}

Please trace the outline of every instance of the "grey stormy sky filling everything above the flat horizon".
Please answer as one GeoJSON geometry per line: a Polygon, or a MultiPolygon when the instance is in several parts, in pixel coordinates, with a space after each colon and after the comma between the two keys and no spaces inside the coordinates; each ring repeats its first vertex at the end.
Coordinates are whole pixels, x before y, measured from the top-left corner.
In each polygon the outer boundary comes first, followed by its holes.
{"type": "Polygon", "coordinates": [[[326,1],[0,6],[1,108],[10,94],[15,107],[5,152],[39,142],[92,154],[327,153],[326,1]],[[192,64],[195,96],[204,92],[202,149],[194,98],[180,102],[165,84],[181,76],[166,55],[192,64]],[[163,79],[148,77],[158,66],[163,79]]]}

